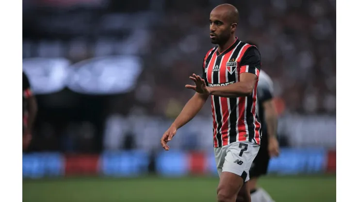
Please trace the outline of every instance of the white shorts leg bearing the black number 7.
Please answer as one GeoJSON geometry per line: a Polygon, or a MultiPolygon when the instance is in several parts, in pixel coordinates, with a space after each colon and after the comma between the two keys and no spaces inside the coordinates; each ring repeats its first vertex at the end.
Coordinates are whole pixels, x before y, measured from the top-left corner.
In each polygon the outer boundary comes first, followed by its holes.
{"type": "Polygon", "coordinates": [[[231,172],[242,177],[244,182],[249,180],[249,169],[256,157],[260,146],[252,142],[234,142],[226,151],[222,172],[231,172]]]}

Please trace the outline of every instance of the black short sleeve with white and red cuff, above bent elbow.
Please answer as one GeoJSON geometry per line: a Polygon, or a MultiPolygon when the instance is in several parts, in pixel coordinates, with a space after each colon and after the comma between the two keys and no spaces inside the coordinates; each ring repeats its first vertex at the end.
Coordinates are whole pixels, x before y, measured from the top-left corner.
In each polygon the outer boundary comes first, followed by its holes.
{"type": "Polygon", "coordinates": [[[259,76],[261,71],[261,54],[259,50],[252,46],[250,47],[243,56],[240,64],[240,73],[248,72],[259,76]]]}

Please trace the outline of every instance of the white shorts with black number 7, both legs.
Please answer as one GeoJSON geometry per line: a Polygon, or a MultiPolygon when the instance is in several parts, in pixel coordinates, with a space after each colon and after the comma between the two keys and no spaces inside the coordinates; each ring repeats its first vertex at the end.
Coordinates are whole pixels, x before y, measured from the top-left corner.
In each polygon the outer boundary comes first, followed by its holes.
{"type": "Polygon", "coordinates": [[[257,156],[260,146],[254,142],[233,142],[229,145],[214,148],[219,177],[222,172],[231,172],[249,180],[249,169],[254,158],[257,156]]]}

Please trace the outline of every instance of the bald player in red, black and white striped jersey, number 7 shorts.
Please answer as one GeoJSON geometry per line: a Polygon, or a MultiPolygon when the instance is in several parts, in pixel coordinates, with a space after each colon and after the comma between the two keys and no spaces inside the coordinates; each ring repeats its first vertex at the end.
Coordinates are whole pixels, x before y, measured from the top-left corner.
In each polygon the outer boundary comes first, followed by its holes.
{"type": "Polygon", "coordinates": [[[220,177],[218,202],[235,202],[237,194],[250,201],[246,182],[261,142],[261,123],[256,115],[261,55],[255,46],[235,36],[238,18],[238,10],[230,4],[212,10],[210,37],[218,46],[205,55],[202,77],[190,77],[195,85],[185,87],[196,93],[161,138],[163,149],[168,151],[167,143],[176,131],[194,118],[211,96],[214,156],[220,177]]]}

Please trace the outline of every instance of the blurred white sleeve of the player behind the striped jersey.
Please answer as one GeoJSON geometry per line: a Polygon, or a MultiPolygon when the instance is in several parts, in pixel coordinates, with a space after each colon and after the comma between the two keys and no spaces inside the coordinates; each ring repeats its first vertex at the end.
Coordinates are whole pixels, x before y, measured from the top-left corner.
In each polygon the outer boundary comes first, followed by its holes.
{"type": "Polygon", "coordinates": [[[273,82],[271,78],[263,71],[259,76],[257,96],[261,101],[268,101],[274,97],[273,82]]]}

